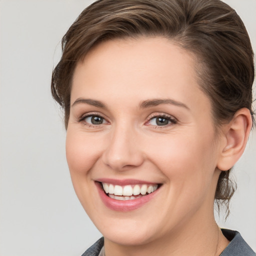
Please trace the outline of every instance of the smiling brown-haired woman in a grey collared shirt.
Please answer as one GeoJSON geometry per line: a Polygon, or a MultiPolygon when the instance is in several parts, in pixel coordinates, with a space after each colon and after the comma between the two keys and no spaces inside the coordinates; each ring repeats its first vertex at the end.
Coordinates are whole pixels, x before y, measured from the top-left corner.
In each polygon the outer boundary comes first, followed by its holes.
{"type": "Polygon", "coordinates": [[[217,226],[252,126],[253,53],[219,0],[101,0],[62,39],[75,192],[104,238],[83,255],[255,255],[217,226]]]}

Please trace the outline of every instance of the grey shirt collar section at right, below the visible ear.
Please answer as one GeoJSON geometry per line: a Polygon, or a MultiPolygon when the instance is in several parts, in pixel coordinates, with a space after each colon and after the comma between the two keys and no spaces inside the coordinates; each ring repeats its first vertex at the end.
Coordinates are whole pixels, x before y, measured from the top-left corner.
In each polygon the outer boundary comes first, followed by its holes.
{"type": "Polygon", "coordinates": [[[220,256],[255,256],[255,252],[244,241],[238,231],[221,229],[223,235],[230,241],[220,256]]]}

